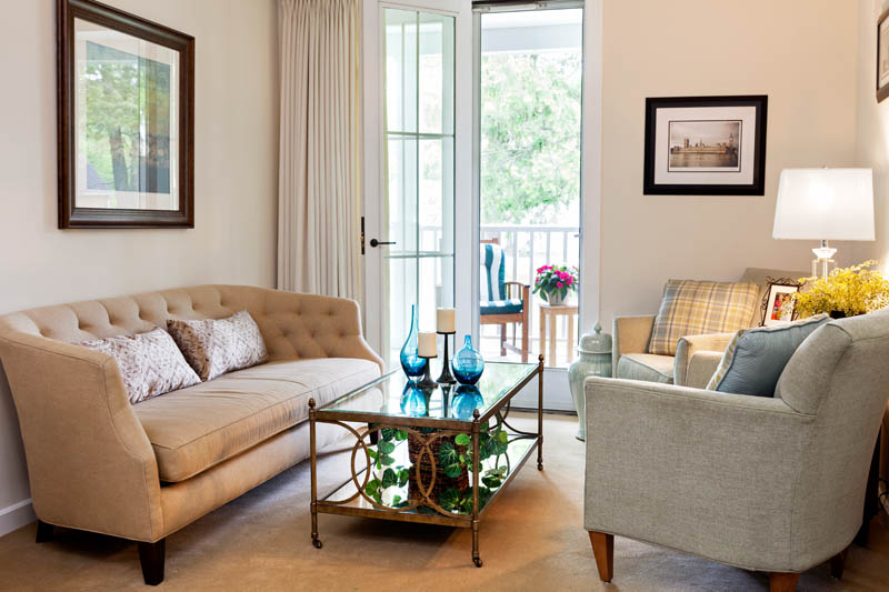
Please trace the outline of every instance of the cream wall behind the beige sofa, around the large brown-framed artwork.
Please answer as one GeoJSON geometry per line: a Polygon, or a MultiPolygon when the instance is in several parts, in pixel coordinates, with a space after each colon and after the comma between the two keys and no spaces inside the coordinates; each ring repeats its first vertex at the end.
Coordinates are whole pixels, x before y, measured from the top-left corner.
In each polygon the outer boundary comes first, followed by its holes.
{"type": "MultiPolygon", "coordinates": [[[[273,285],[277,2],[103,1],[196,38],[196,228],[57,230],[56,2],[0,0],[0,313],[197,283],[273,285]]],[[[17,520],[4,509],[28,498],[0,375],[0,534],[17,520]]]]}

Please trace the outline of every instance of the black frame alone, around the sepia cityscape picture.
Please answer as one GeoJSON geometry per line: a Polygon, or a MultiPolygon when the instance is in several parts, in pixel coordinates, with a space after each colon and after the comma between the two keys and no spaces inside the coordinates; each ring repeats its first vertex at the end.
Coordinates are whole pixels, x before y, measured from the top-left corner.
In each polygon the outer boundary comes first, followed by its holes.
{"type": "Polygon", "coordinates": [[[646,195],[763,195],[766,193],[766,123],[768,106],[769,98],[766,94],[647,98],[642,193],[646,195]],[[751,183],[679,184],[655,182],[657,111],[662,108],[683,107],[753,107],[756,109],[753,175],[751,183]]]}

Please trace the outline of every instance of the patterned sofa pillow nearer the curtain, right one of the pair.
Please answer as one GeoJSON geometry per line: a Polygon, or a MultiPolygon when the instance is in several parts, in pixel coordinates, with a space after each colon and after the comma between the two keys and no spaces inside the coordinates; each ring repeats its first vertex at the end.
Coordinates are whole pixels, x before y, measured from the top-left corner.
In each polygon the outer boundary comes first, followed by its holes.
{"type": "Polygon", "coordinates": [[[228,319],[167,321],[167,330],[201,380],[264,362],[269,353],[253,318],[246,310],[228,319]]]}

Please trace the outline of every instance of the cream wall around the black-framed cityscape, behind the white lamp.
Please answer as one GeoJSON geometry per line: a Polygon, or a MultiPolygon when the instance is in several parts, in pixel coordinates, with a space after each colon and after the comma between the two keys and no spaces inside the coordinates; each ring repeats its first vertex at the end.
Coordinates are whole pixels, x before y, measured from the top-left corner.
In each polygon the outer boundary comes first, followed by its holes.
{"type": "Polygon", "coordinates": [[[771,239],[778,175],[853,163],[857,13],[833,0],[605,2],[605,327],[656,311],[669,278],[809,269],[815,244],[771,239]],[[769,96],[765,197],[642,194],[646,97],[698,94],[769,96]]]}

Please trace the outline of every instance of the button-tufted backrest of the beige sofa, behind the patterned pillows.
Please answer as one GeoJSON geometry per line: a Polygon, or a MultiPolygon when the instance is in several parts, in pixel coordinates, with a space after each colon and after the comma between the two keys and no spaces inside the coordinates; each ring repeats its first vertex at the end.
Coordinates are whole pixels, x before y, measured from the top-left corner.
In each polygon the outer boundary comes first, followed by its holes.
{"type": "Polygon", "coordinates": [[[168,319],[223,319],[240,310],[256,320],[270,360],[349,357],[342,351],[349,340],[342,338],[361,334],[353,301],[248,285],[197,285],[31,309],[0,317],[0,334],[21,331],[79,343],[166,330],[168,319]]]}

